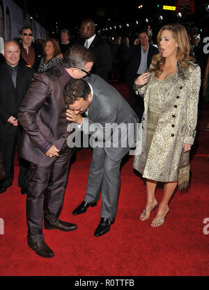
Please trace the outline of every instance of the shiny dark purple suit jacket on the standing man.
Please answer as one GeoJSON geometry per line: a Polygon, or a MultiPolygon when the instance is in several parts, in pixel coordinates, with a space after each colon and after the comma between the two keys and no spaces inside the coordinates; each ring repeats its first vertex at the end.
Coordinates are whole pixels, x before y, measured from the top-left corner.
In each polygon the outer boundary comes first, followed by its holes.
{"type": "Polygon", "coordinates": [[[61,150],[67,135],[63,88],[71,76],[59,64],[36,73],[19,108],[18,120],[24,128],[22,157],[40,166],[49,166],[56,156],[45,155],[53,144],[61,150]]]}

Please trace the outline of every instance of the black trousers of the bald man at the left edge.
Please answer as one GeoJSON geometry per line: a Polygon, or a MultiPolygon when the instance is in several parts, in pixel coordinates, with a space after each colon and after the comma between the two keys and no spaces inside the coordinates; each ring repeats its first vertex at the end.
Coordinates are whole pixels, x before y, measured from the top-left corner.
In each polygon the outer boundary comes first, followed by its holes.
{"type": "Polygon", "coordinates": [[[22,127],[17,127],[16,134],[13,135],[0,134],[0,152],[3,156],[3,166],[6,173],[5,179],[0,182],[0,188],[7,188],[13,184],[16,147],[20,164],[18,185],[22,188],[22,191],[26,192],[29,183],[29,161],[20,157],[22,148],[22,127]]]}

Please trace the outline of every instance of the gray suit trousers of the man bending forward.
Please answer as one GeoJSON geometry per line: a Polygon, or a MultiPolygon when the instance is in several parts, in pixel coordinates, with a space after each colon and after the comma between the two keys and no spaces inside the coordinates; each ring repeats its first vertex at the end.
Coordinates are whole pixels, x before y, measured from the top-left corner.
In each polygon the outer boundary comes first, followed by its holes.
{"type": "Polygon", "coordinates": [[[95,147],[93,149],[84,201],[98,202],[102,191],[102,218],[116,216],[121,186],[121,160],[111,160],[103,148],[95,147]]]}

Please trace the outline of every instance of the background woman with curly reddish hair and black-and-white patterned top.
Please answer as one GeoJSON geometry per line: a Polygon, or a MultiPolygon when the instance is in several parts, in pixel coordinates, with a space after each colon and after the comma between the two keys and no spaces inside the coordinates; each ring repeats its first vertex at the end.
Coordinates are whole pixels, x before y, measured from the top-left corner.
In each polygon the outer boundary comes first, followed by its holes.
{"type": "Polygon", "coordinates": [[[59,43],[54,38],[49,38],[44,45],[43,56],[40,60],[38,72],[46,72],[51,67],[56,66],[62,58],[63,56],[59,43]]]}

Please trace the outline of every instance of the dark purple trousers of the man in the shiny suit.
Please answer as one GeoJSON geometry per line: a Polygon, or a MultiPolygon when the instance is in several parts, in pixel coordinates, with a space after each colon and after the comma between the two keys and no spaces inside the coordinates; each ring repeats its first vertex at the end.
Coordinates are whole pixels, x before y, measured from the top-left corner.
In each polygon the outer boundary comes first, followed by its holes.
{"type": "Polygon", "coordinates": [[[50,166],[31,163],[29,170],[29,192],[26,198],[26,220],[28,242],[43,239],[42,221],[56,224],[59,221],[65,186],[68,181],[70,156],[75,152],[65,142],[59,157],[50,166]]]}

